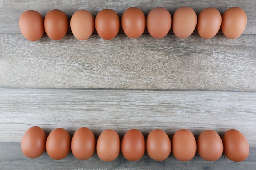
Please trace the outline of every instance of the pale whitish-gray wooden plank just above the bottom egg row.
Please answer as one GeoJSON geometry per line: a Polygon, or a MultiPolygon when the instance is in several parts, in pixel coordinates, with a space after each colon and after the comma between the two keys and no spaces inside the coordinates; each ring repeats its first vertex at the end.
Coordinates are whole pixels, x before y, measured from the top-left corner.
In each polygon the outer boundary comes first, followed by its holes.
{"type": "Polygon", "coordinates": [[[188,128],[220,135],[240,130],[256,146],[256,93],[214,91],[121,91],[72,89],[0,89],[0,141],[20,142],[31,126],[47,134],[86,126],[96,136],[112,128],[120,135],[138,128],[146,136],[161,128],[172,136],[188,128]]]}

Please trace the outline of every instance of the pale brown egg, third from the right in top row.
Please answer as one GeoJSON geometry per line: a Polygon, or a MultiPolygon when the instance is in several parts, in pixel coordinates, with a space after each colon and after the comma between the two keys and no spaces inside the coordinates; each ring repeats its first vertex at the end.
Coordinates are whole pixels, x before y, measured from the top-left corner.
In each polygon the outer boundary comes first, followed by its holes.
{"type": "Polygon", "coordinates": [[[187,38],[193,33],[197,24],[197,16],[191,7],[180,7],[173,13],[173,33],[178,38],[187,38]]]}

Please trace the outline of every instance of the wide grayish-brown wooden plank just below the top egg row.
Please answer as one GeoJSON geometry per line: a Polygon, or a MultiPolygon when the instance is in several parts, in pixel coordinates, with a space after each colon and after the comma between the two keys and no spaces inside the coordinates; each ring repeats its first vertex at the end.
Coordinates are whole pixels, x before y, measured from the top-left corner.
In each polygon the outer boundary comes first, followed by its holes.
{"type": "Polygon", "coordinates": [[[79,41],[69,34],[29,42],[19,33],[0,34],[0,86],[255,91],[255,39],[122,34],[79,41]]]}

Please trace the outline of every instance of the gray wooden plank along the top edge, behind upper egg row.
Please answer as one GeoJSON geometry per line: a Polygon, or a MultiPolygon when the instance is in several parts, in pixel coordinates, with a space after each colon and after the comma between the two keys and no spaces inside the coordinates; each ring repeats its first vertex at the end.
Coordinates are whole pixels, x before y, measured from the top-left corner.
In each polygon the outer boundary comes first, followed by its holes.
{"type": "Polygon", "coordinates": [[[196,13],[207,7],[215,7],[223,13],[229,7],[237,6],[244,9],[247,13],[247,27],[244,34],[256,34],[255,0],[180,0],[179,2],[175,0],[0,0],[0,33],[19,33],[18,19],[22,12],[29,9],[34,9],[43,16],[52,9],[60,9],[68,17],[71,17],[79,9],[87,9],[96,16],[101,9],[110,8],[116,11],[121,17],[125,9],[132,6],[141,8],[145,14],[155,7],[165,7],[173,14],[177,8],[182,6],[192,7],[196,13]]]}

